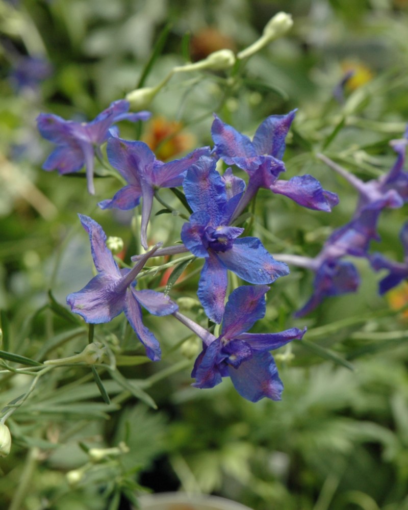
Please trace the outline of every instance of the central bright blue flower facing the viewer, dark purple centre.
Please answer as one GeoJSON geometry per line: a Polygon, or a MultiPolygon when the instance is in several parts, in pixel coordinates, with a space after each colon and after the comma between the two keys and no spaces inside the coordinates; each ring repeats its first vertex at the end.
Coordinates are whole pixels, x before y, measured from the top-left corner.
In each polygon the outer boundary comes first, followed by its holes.
{"type": "Polygon", "coordinates": [[[237,177],[233,179],[231,172],[223,179],[215,166],[213,158],[202,157],[187,171],[183,187],[193,214],[183,225],[181,237],[196,257],[205,258],[197,295],[206,314],[219,323],[227,269],[253,284],[272,283],[289,270],[273,259],[258,238],[238,238],[244,229],[228,226],[244,184],[237,177]]]}

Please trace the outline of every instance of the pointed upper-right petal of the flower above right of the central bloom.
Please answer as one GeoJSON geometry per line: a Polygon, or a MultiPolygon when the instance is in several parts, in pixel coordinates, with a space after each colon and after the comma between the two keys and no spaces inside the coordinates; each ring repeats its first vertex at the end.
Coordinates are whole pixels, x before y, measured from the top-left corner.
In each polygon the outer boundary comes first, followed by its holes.
{"type": "Polygon", "coordinates": [[[282,159],[285,152],[285,138],[295,118],[296,110],[287,115],[271,115],[258,127],[252,143],[258,154],[269,154],[282,159]]]}

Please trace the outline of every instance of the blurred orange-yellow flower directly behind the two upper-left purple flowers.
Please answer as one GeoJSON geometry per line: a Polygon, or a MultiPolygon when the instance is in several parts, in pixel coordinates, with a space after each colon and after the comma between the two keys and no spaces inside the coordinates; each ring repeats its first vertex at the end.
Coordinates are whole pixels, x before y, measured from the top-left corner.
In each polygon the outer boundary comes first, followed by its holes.
{"type": "Polygon", "coordinates": [[[186,152],[195,143],[194,135],[181,133],[182,129],[182,122],[155,117],[149,122],[143,141],[155,152],[157,159],[167,161],[186,152]]]}

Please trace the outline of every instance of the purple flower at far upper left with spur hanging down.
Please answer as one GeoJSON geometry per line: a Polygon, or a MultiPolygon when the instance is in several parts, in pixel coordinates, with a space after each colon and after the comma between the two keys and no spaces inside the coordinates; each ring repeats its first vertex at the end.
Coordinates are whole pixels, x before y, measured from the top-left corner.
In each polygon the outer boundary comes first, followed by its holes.
{"type": "Polygon", "coordinates": [[[65,174],[78,172],[85,165],[88,191],[94,194],[95,150],[100,150],[99,146],[107,140],[109,129],[120,120],[135,122],[151,116],[146,111],[128,113],[129,107],[129,102],[124,99],[114,101],[90,122],[75,122],[41,113],[37,117],[38,130],[43,138],[57,145],[42,168],[48,171],[57,169],[60,174],[65,174]]]}

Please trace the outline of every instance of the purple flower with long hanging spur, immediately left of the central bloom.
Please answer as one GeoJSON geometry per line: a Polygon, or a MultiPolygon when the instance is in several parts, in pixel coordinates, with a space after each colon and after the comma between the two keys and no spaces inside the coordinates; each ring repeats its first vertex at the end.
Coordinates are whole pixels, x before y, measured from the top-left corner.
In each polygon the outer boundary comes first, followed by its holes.
{"type": "Polygon", "coordinates": [[[108,140],[107,154],[110,164],[128,184],[111,200],[103,200],[98,205],[101,209],[133,209],[142,197],[141,243],[147,248],[147,223],[155,188],[181,186],[186,170],[202,155],[208,155],[209,148],[202,147],[182,159],[163,163],[156,159],[154,152],[144,142],[111,137],[108,140]]]}

